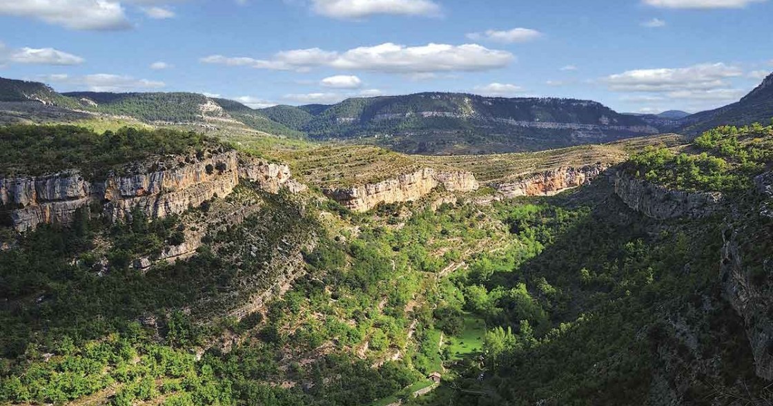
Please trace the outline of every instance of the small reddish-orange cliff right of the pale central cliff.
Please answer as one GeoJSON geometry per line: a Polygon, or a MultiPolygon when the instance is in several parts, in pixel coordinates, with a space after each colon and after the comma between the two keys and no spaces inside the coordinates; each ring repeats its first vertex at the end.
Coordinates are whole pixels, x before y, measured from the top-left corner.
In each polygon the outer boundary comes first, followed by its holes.
{"type": "Polygon", "coordinates": [[[581,168],[561,167],[521,179],[514,183],[501,183],[495,189],[506,197],[552,196],[590,182],[606,169],[603,165],[587,165],[581,168]]]}

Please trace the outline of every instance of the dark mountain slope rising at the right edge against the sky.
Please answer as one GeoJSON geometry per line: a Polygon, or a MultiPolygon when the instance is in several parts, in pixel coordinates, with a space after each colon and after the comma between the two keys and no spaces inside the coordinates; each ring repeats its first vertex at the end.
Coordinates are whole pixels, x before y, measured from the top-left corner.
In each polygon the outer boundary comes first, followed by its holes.
{"type": "Polygon", "coordinates": [[[710,111],[701,111],[683,118],[681,131],[700,135],[719,125],[768,124],[773,118],[773,73],[740,101],[710,111]]]}

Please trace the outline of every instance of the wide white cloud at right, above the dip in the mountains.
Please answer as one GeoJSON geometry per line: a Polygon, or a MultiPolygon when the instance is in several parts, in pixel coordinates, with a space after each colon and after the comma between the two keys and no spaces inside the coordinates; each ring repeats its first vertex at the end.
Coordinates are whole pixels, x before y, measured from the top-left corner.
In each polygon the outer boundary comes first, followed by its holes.
{"type": "Polygon", "coordinates": [[[704,63],[676,69],[628,70],[606,77],[603,81],[614,91],[709,90],[727,87],[725,79],[742,74],[738,67],[724,63],[704,63]]]}

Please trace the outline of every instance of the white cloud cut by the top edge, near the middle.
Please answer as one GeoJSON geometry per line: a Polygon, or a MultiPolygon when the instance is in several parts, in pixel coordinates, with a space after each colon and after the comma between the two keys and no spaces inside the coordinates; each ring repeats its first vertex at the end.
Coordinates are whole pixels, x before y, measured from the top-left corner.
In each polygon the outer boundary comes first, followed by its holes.
{"type": "Polygon", "coordinates": [[[363,19],[370,15],[440,15],[431,0],[312,0],[315,12],[334,19],[363,19]]]}

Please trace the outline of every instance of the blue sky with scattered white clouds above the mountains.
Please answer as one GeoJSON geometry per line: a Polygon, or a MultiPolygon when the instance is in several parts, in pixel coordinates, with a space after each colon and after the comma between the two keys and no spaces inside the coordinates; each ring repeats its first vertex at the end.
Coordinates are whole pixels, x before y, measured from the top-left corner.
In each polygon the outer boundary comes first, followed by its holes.
{"type": "Polygon", "coordinates": [[[773,72],[773,0],[0,0],[0,77],[250,105],[449,91],[707,110],[773,72]]]}

